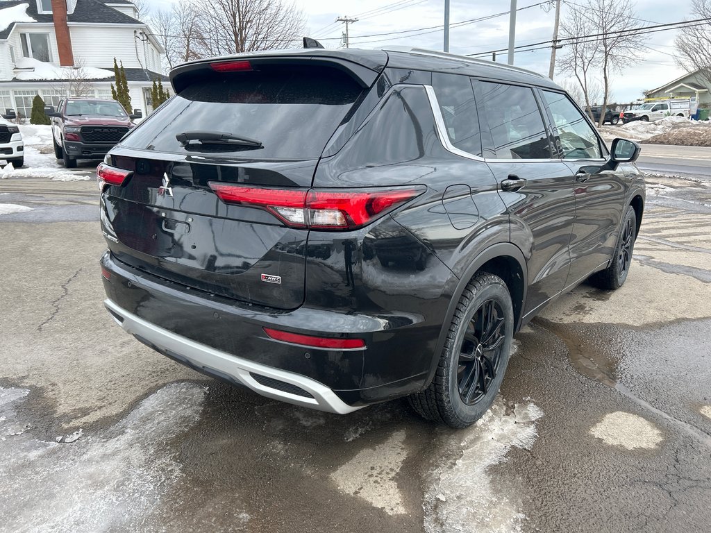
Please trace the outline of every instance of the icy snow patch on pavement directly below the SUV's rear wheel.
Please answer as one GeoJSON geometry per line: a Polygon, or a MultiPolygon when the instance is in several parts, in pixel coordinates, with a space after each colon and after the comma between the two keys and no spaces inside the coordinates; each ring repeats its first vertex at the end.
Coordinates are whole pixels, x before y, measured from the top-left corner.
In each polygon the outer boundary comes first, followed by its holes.
{"type": "Polygon", "coordinates": [[[535,404],[507,409],[497,397],[474,426],[447,434],[441,449],[445,459],[432,473],[425,494],[424,529],[427,533],[520,532],[525,515],[513,494],[496,490],[488,469],[506,461],[511,448],[530,449],[543,416],[535,404]],[[451,460],[454,454],[456,461],[451,460]]]}

